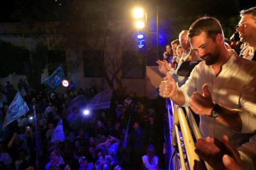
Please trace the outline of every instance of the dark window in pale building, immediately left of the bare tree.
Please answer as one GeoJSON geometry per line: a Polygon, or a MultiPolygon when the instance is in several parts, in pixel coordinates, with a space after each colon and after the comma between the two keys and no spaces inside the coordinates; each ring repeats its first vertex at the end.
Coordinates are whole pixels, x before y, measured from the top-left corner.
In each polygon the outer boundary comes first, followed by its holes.
{"type": "Polygon", "coordinates": [[[100,50],[84,50],[84,77],[102,77],[101,67],[104,62],[104,52],[100,50]]]}

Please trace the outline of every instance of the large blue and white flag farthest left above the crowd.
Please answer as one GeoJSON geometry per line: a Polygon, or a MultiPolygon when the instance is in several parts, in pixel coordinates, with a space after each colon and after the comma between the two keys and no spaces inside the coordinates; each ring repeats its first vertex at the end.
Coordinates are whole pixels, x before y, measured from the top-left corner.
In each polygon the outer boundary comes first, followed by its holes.
{"type": "Polygon", "coordinates": [[[11,105],[9,105],[6,117],[4,118],[4,127],[25,115],[28,111],[28,105],[26,105],[26,102],[23,100],[20,92],[17,92],[15,98],[11,102],[11,105]]]}

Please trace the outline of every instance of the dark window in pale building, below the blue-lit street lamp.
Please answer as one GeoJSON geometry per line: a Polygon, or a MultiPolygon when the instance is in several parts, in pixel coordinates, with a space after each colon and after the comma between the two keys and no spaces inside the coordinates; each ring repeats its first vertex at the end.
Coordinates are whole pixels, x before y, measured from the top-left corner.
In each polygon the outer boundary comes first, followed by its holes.
{"type": "Polygon", "coordinates": [[[124,51],[122,57],[122,76],[130,79],[143,79],[145,76],[145,57],[137,51],[124,51]]]}

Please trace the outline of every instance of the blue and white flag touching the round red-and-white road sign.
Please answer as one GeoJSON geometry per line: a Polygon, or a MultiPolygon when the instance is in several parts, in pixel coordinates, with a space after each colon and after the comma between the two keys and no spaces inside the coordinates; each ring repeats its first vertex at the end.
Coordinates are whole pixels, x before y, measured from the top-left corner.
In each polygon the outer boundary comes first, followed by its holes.
{"type": "Polygon", "coordinates": [[[44,80],[44,82],[48,84],[50,88],[55,89],[57,86],[61,85],[64,76],[64,70],[62,65],[60,65],[49,77],[44,80]]]}

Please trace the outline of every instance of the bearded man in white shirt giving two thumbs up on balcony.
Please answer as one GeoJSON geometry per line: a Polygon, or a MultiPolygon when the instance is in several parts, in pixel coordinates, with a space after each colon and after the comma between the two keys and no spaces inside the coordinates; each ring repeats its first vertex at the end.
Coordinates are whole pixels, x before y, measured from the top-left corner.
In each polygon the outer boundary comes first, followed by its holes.
{"type": "Polygon", "coordinates": [[[189,80],[177,88],[170,74],[160,84],[160,95],[200,115],[202,136],[221,139],[226,134],[238,147],[256,129],[256,63],[238,57],[224,46],[218,20],[204,17],[189,29],[193,50],[204,62],[195,66],[189,80]],[[236,86],[233,86],[236,84],[236,86]]]}

